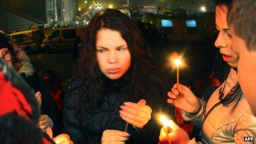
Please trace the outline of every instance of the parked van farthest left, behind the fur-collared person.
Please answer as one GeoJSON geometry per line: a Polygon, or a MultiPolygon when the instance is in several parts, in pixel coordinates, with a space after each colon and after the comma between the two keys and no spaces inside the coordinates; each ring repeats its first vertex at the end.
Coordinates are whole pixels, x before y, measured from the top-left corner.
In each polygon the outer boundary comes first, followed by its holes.
{"type": "Polygon", "coordinates": [[[7,35],[10,40],[15,42],[20,49],[25,50],[28,54],[40,49],[44,32],[42,29],[32,29],[18,31],[7,35]]]}

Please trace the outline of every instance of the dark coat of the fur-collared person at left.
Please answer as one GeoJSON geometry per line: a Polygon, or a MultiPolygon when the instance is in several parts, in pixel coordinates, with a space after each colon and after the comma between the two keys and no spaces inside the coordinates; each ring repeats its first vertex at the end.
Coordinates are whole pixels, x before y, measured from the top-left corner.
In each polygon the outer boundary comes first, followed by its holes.
{"type": "Polygon", "coordinates": [[[49,91],[45,88],[44,84],[39,79],[38,74],[34,72],[31,76],[28,76],[25,73],[21,73],[21,76],[25,79],[29,86],[33,88],[35,93],[40,92],[42,94],[41,114],[49,116],[49,118],[51,118],[52,122],[54,123],[54,127],[52,127],[54,136],[60,134],[62,130],[60,128],[60,120],[58,120],[57,106],[49,91]]]}

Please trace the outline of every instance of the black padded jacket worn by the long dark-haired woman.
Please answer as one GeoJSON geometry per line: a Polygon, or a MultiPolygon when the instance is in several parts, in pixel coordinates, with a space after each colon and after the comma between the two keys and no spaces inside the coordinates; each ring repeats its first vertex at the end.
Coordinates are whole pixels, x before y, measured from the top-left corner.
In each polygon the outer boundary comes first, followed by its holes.
{"type": "MultiPolygon", "coordinates": [[[[125,85],[120,81],[105,81],[103,88],[101,88],[102,105],[92,108],[88,102],[86,105],[88,114],[86,114],[84,121],[79,121],[76,110],[79,109],[77,105],[79,103],[79,97],[83,94],[83,88],[81,82],[76,77],[70,79],[64,99],[63,124],[64,131],[70,135],[74,143],[100,143],[104,130],[125,131],[126,122],[119,116],[120,106],[129,100],[130,95],[130,89],[125,88],[125,85]]],[[[150,92],[151,88],[148,89],[148,92],[150,92]]],[[[157,98],[158,95],[161,94],[158,93],[154,97],[157,98]]],[[[166,95],[161,95],[161,97],[166,97],[166,95]]],[[[157,107],[160,104],[164,105],[164,103],[158,102],[158,99],[156,99],[156,104],[151,105],[150,99],[145,100],[147,105],[150,105],[152,109],[152,118],[142,130],[136,131],[129,125],[127,132],[129,132],[131,137],[126,143],[158,143],[161,125],[156,122],[154,113],[158,113],[157,107]]],[[[138,101],[129,100],[129,102],[137,103],[138,101]]],[[[170,109],[170,107],[168,108],[170,109]]],[[[168,113],[172,112],[170,110],[168,111],[168,113]]]]}

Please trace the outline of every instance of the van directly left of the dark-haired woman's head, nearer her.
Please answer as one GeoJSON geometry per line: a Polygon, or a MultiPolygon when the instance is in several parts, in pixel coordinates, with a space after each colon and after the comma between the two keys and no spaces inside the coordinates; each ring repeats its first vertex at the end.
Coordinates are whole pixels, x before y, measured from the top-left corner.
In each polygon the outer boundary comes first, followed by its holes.
{"type": "Polygon", "coordinates": [[[85,26],[57,28],[42,41],[42,50],[47,54],[52,51],[70,51],[74,47],[76,38],[78,36],[81,38],[85,30],[85,26]]]}

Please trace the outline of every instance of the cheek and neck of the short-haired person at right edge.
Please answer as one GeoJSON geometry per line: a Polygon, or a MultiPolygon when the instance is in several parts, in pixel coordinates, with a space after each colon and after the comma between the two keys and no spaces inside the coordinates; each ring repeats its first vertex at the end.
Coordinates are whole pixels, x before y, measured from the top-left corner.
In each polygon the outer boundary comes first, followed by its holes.
{"type": "Polygon", "coordinates": [[[241,85],[244,97],[256,116],[256,51],[248,51],[246,43],[230,29],[232,49],[239,55],[238,82],[241,85]]]}

